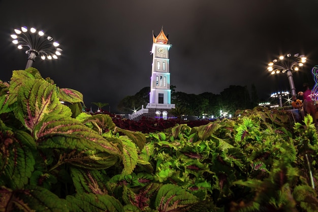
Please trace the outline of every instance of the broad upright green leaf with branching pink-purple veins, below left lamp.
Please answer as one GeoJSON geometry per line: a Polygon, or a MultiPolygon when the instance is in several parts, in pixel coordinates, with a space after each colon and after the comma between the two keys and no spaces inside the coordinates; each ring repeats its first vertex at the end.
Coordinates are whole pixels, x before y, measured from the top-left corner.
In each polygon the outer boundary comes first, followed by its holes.
{"type": "Polygon", "coordinates": [[[54,85],[39,79],[30,79],[20,87],[15,114],[31,133],[47,114],[72,115],[71,109],[60,103],[54,88],[54,85]]]}

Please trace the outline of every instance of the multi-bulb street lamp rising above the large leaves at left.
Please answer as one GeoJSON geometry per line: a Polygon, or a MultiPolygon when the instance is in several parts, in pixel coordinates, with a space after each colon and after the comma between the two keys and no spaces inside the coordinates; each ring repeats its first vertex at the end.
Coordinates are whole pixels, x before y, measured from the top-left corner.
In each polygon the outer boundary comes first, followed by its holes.
{"type": "Polygon", "coordinates": [[[27,47],[25,51],[28,54],[27,63],[25,69],[31,67],[38,55],[42,59],[57,59],[57,56],[61,55],[62,49],[58,48],[59,43],[53,41],[50,36],[45,36],[42,30],[38,31],[34,27],[29,30],[22,26],[21,29],[14,29],[15,34],[11,35],[13,39],[12,43],[18,45],[18,49],[27,47]]]}

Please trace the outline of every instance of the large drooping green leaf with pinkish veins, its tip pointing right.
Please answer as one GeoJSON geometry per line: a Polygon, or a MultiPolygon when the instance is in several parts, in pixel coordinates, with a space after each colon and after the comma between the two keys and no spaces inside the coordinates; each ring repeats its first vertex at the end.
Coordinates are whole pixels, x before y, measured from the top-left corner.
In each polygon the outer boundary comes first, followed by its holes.
{"type": "Polygon", "coordinates": [[[44,152],[49,149],[60,150],[59,161],[51,169],[63,163],[88,169],[105,169],[113,166],[122,155],[115,144],[71,117],[47,115],[36,131],[39,149],[44,152]]]}

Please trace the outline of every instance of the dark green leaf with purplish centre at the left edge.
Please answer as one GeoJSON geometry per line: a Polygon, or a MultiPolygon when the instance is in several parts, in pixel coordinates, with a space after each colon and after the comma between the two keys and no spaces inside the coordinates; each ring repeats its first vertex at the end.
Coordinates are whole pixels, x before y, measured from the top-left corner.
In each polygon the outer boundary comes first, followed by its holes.
{"type": "Polygon", "coordinates": [[[1,138],[0,184],[13,189],[23,188],[34,170],[33,138],[23,131],[1,138]]]}

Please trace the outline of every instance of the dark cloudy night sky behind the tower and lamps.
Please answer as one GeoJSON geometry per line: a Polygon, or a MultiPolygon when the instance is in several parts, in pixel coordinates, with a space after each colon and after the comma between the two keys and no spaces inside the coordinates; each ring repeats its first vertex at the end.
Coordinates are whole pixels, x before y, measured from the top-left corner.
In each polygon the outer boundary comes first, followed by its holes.
{"type": "Polygon", "coordinates": [[[290,90],[286,74],[267,71],[279,54],[305,54],[305,67],[294,73],[296,92],[304,82],[314,85],[317,9],[316,0],[0,0],[0,79],[9,81],[27,62],[26,49],[11,42],[14,28],[34,26],[63,49],[57,60],[36,59],[42,77],[78,90],[87,107],[109,103],[116,112],[122,98],[150,86],[152,31],[163,26],[176,91],[219,94],[253,83],[267,100],[290,90]]]}

